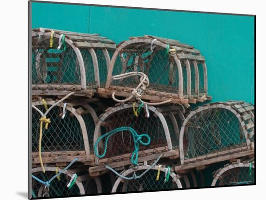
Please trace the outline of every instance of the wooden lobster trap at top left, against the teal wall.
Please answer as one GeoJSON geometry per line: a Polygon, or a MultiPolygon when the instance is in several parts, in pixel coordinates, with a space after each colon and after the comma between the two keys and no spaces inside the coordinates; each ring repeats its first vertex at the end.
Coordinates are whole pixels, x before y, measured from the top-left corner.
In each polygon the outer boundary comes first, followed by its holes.
{"type": "Polygon", "coordinates": [[[115,42],[99,34],[32,29],[32,94],[92,97],[106,80],[115,42]]]}

